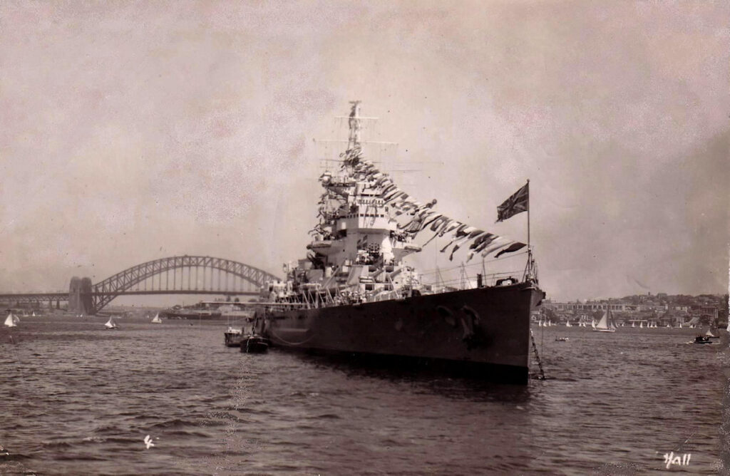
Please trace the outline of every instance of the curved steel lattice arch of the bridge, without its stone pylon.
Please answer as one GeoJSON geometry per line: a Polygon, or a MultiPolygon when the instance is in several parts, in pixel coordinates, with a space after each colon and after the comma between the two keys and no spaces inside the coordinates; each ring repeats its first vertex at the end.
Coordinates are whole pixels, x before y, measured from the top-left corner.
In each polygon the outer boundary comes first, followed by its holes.
{"type": "MultiPolygon", "coordinates": [[[[107,277],[107,279],[96,283],[92,286],[93,304],[92,309],[86,310],[90,314],[96,314],[104,306],[112,302],[112,299],[119,296],[120,293],[128,291],[134,285],[142,283],[150,277],[161,275],[175,269],[185,268],[204,268],[218,269],[229,275],[234,275],[252,283],[255,286],[264,285],[269,280],[278,280],[279,277],[272,275],[262,269],[231,261],[225,258],[214,258],[212,256],[171,256],[169,258],[160,258],[146,263],[131,266],[124,271],[118,272],[116,275],[107,277]]],[[[190,281],[188,280],[188,285],[190,281]]],[[[220,283],[219,283],[220,284],[220,283]]],[[[197,286],[196,286],[197,290],[197,286]]],[[[185,291],[180,290],[180,291],[185,291]]],[[[188,291],[193,291],[189,289],[188,291]]],[[[161,292],[164,293],[164,292],[161,292]]]]}

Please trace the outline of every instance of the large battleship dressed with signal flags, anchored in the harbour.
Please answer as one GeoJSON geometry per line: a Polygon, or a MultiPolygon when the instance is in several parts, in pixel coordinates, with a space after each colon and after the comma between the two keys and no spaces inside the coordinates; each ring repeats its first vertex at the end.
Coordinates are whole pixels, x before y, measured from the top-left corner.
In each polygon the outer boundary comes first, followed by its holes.
{"type": "MultiPolygon", "coordinates": [[[[436,200],[421,204],[401,191],[364,156],[360,101],[350,104],[339,168],[319,177],[324,191],[307,257],[262,287],[257,331],[275,348],[527,383],[530,314],[545,297],[529,239],[526,246],[476,229],[437,213],[436,200]],[[450,247],[452,258],[467,245],[469,258],[527,247],[523,275],[493,283],[477,275],[471,288],[426,284],[406,258],[429,231],[451,239],[441,251],[450,247]]],[[[500,220],[529,212],[526,190],[499,207],[500,220]]]]}

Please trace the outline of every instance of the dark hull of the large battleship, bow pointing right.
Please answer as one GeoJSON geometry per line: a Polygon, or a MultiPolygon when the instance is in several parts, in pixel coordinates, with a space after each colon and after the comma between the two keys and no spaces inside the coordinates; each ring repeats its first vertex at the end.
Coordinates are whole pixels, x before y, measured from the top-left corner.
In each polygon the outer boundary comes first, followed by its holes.
{"type": "Polygon", "coordinates": [[[526,383],[530,310],[543,296],[536,286],[519,283],[267,312],[264,333],[273,346],[288,350],[526,383]]]}

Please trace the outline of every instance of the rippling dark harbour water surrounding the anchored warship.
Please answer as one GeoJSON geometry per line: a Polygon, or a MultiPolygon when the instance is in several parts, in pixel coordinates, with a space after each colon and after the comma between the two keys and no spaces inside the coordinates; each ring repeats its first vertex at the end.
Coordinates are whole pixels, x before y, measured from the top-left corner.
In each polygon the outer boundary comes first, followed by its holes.
{"type": "Polygon", "coordinates": [[[688,345],[696,329],[535,327],[548,380],[519,386],[242,354],[220,321],[105,320],[0,329],[0,474],[633,474],[670,452],[691,454],[672,471],[720,467],[728,342],[688,345]]]}

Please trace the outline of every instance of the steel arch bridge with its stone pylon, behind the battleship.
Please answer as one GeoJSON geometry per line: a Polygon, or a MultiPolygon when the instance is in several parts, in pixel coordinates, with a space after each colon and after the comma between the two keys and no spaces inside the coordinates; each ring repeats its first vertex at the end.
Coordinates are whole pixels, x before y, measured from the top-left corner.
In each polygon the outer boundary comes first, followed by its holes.
{"type": "Polygon", "coordinates": [[[238,261],[211,256],[172,256],[137,264],[93,285],[89,278],[72,278],[69,310],[96,314],[115,297],[130,294],[258,295],[261,285],[278,279],[269,272],[238,261]],[[215,272],[218,272],[218,283],[215,272]],[[221,275],[225,275],[225,282],[221,275]],[[253,289],[247,289],[245,283],[253,285],[253,289]]]}

